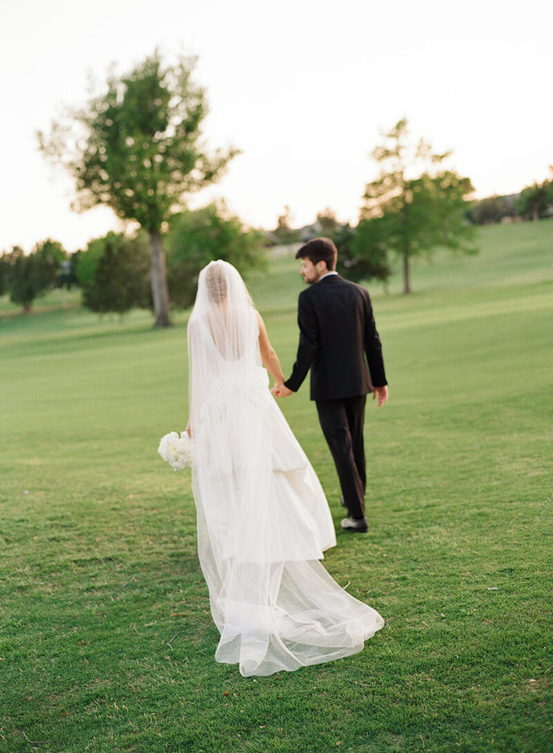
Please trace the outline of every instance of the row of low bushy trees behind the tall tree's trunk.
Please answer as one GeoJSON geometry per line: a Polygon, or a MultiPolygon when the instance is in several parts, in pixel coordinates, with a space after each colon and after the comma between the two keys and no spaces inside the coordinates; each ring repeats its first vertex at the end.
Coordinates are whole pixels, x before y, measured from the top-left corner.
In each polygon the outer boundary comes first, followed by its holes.
{"type": "MultiPolygon", "coordinates": [[[[173,215],[162,243],[174,308],[194,303],[197,276],[212,259],[231,261],[246,273],[266,263],[264,234],[245,227],[222,202],[173,215]]],[[[25,312],[52,288],[73,286],[82,289],[84,306],[100,314],[124,315],[133,308],[153,311],[148,233],[142,228],[110,232],[71,255],[60,242],[48,239],[30,254],[14,246],[0,256],[0,295],[9,294],[25,312]]]]}

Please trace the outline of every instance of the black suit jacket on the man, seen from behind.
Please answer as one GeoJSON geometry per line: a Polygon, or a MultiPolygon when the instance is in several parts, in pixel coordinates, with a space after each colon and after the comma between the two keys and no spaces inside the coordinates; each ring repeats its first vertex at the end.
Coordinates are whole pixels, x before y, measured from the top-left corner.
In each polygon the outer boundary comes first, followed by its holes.
{"type": "Polygon", "coordinates": [[[367,395],[373,385],[386,384],[371,298],[361,285],[329,275],[305,288],[298,299],[298,326],[298,355],[285,382],[292,392],[310,369],[311,400],[367,395]]]}

